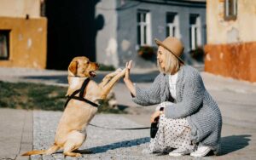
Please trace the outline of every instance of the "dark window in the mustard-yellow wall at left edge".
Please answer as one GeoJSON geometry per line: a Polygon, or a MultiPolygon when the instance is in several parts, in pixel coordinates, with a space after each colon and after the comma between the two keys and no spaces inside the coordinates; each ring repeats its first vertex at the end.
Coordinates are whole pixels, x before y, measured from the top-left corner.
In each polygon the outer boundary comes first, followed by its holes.
{"type": "Polygon", "coordinates": [[[9,31],[0,30],[0,60],[9,59],[9,31]]]}

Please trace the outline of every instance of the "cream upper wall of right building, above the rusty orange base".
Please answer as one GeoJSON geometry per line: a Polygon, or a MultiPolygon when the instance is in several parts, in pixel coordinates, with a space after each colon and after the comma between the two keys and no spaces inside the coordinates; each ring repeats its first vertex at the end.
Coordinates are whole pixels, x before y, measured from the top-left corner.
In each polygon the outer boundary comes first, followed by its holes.
{"type": "Polygon", "coordinates": [[[224,20],[224,0],[207,0],[207,43],[256,41],[256,1],[237,0],[237,19],[224,20]]]}

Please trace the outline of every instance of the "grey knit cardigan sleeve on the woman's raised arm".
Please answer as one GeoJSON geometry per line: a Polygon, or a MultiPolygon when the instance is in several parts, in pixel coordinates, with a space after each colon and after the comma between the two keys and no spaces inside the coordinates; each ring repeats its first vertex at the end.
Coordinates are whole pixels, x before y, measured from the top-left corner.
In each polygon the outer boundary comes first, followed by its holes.
{"type": "Polygon", "coordinates": [[[135,85],[136,96],[132,98],[133,102],[141,106],[149,106],[160,103],[160,83],[162,75],[159,74],[154,79],[154,83],[148,89],[140,89],[135,85]]]}

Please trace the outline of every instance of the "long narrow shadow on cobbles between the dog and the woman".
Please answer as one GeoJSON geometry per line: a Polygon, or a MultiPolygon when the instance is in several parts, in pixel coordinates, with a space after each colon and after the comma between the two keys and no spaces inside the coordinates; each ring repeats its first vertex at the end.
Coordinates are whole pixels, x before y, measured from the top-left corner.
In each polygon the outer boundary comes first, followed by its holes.
{"type": "Polygon", "coordinates": [[[83,151],[86,152],[89,150],[89,151],[92,151],[92,153],[96,154],[96,153],[106,152],[108,150],[114,150],[117,148],[139,146],[144,143],[148,143],[149,141],[150,141],[149,137],[144,137],[144,138],[135,139],[135,140],[120,141],[120,142],[116,142],[116,143],[105,145],[105,146],[96,146],[96,147],[88,148],[86,150],[79,150],[79,152],[83,152],[83,151]]]}

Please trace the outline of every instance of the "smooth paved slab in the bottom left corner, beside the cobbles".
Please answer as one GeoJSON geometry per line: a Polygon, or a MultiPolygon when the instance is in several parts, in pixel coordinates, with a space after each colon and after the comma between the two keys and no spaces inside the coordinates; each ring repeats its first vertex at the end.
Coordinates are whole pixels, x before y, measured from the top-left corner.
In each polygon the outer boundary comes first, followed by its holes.
{"type": "Polygon", "coordinates": [[[32,150],[32,111],[0,108],[0,159],[29,159],[32,150]]]}

